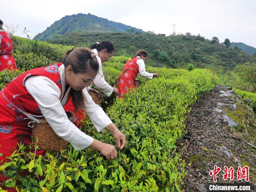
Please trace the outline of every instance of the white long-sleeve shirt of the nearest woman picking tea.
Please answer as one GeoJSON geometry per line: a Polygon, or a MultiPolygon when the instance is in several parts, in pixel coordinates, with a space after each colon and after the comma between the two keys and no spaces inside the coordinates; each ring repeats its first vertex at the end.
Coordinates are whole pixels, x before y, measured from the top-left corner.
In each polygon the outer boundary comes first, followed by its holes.
{"type": "MultiPolygon", "coordinates": [[[[53,131],[56,132],[58,136],[71,143],[76,150],[83,150],[93,143],[93,138],[80,131],[79,128],[68,120],[63,106],[67,102],[70,87],[64,95],[64,65],[61,65],[58,70],[61,78],[62,93],[59,87],[45,76],[31,76],[26,80],[25,86],[37,102],[43,116],[50,127],[52,127],[53,131]]],[[[97,131],[103,131],[112,121],[102,108],[94,103],[87,89],[83,89],[83,94],[86,98],[86,108],[84,111],[90,117],[97,131]]]]}

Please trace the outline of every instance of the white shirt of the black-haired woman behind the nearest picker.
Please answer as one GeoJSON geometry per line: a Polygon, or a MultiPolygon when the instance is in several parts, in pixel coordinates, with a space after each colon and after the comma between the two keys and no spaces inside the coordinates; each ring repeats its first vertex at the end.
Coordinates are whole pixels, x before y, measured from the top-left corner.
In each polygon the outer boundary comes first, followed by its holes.
{"type": "MultiPolygon", "coordinates": [[[[102,63],[101,63],[101,58],[98,57],[98,51],[97,49],[92,50],[97,57],[98,63],[99,63],[99,72],[96,75],[95,79],[93,79],[93,83],[95,86],[101,90],[103,93],[105,93],[108,97],[113,93],[113,87],[106,82],[103,71],[102,71],[102,63]]],[[[87,88],[89,90],[90,88],[87,88]]]]}

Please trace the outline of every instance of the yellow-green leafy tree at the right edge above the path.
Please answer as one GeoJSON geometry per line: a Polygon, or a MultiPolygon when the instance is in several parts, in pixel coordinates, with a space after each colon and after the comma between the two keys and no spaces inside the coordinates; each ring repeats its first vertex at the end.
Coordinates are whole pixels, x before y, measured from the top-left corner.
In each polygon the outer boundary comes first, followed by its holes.
{"type": "Polygon", "coordinates": [[[256,63],[245,63],[237,65],[234,71],[245,83],[250,83],[256,92],[256,63]]]}

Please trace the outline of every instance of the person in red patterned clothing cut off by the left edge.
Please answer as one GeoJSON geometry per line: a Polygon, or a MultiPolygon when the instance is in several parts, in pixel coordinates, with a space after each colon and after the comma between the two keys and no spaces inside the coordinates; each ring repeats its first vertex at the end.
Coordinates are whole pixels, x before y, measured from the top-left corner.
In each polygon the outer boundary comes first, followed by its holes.
{"type": "Polygon", "coordinates": [[[4,69],[16,70],[16,62],[12,56],[11,35],[3,30],[3,21],[0,20],[0,71],[4,69]]]}

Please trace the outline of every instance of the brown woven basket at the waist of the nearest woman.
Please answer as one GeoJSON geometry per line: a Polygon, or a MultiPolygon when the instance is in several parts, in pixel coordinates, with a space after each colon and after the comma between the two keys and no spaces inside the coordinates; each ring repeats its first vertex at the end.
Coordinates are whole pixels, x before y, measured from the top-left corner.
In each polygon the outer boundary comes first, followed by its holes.
{"type": "MultiPolygon", "coordinates": [[[[72,112],[66,111],[66,114],[70,121],[75,117],[72,112]]],[[[44,118],[38,118],[38,120],[40,123],[34,123],[32,128],[32,137],[38,139],[38,143],[34,139],[34,144],[37,144],[42,150],[52,151],[60,151],[68,146],[68,142],[60,138],[44,118]]]]}

